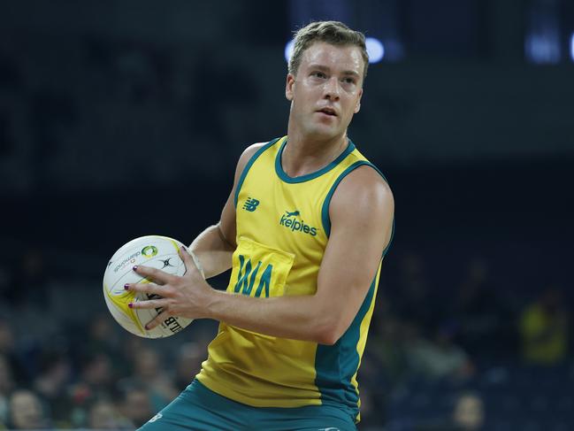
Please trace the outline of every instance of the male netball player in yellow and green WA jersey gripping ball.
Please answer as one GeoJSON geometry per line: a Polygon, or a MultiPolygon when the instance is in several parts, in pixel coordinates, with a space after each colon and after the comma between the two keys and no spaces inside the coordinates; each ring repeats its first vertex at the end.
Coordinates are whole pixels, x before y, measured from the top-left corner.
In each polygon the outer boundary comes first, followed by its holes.
{"type": "Polygon", "coordinates": [[[134,270],[158,294],[131,304],[217,319],[202,371],[142,427],[155,430],[351,430],[356,372],[371,321],[394,201],[382,174],[347,137],[359,111],[364,35],[314,22],[295,35],[287,136],[241,155],[217,226],[181,257],[183,277],[134,270]],[[226,292],[206,278],[233,267],[226,292]]]}

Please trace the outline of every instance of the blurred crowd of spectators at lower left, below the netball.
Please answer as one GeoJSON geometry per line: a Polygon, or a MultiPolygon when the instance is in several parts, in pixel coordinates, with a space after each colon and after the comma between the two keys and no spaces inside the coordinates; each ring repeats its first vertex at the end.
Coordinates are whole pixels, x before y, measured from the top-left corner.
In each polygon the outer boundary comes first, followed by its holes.
{"type": "Polygon", "coordinates": [[[165,352],[119,334],[116,325],[109,315],[94,316],[64,343],[21,345],[11,322],[1,320],[0,427],[134,429],[199,371],[204,340],[165,352]]]}

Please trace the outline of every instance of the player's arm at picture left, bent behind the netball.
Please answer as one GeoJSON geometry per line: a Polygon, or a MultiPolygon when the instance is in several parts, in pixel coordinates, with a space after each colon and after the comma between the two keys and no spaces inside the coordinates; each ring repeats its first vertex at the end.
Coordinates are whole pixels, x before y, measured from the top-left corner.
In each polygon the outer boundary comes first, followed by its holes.
{"type": "Polygon", "coordinates": [[[233,189],[227,197],[221,212],[221,219],[217,225],[210,226],[200,235],[197,235],[194,242],[189,246],[189,249],[194,252],[201,263],[206,279],[223,273],[232,266],[233,251],[237,248],[235,242],[235,190],[245,165],[256,153],[256,150],[259,150],[263,145],[264,142],[256,143],[243,151],[235,168],[233,189]]]}

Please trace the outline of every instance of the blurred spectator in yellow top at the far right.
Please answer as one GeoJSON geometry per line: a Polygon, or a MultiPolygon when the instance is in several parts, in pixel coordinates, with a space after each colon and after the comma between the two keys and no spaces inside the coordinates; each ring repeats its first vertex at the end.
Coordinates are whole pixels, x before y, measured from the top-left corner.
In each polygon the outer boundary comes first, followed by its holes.
{"type": "Polygon", "coordinates": [[[524,308],[519,327],[526,363],[553,366],[563,362],[569,348],[569,314],[562,292],[555,287],[545,289],[535,302],[524,308]]]}

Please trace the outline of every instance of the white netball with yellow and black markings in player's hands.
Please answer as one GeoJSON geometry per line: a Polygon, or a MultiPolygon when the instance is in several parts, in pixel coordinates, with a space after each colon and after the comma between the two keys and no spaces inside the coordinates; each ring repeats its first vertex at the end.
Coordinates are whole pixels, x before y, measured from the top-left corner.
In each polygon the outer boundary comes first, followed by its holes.
{"type": "Polygon", "coordinates": [[[126,291],[126,283],[146,283],[146,278],[134,272],[134,266],[151,266],[165,273],[183,275],[186,266],[180,258],[183,244],[167,236],[141,236],[123,245],[111,257],[103,274],[103,297],[114,319],[127,331],[145,338],[163,338],[180,332],[192,319],[169,317],[151,330],[145,325],[155,319],[161,309],[131,309],[129,303],[157,299],[148,295],[126,291]]]}

